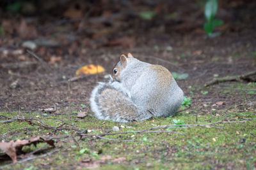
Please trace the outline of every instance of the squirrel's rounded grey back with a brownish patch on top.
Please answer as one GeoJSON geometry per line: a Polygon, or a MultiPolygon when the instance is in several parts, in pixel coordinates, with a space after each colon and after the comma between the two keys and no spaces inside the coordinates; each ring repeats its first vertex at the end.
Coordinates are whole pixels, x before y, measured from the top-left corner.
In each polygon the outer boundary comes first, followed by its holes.
{"type": "Polygon", "coordinates": [[[156,117],[168,117],[180,107],[183,92],[168,69],[150,64],[131,87],[134,103],[145,106],[156,117]]]}

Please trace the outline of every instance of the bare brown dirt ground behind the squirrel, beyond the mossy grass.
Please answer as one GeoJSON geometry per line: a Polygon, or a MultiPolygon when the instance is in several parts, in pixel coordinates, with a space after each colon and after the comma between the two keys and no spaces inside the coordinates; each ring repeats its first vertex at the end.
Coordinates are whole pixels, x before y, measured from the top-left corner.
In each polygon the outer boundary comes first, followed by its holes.
{"type": "MultiPolygon", "coordinates": [[[[192,108],[239,108],[244,103],[239,83],[227,81],[209,87],[204,84],[216,77],[256,70],[256,2],[220,3],[216,17],[224,24],[216,29],[221,34],[215,38],[207,38],[202,29],[204,6],[196,6],[195,1],[182,3],[159,4],[154,10],[159,8],[162,13],[152,20],[132,15],[134,10],[150,8],[143,3],[136,6],[134,2],[132,10],[125,10],[127,6],[122,4],[97,6],[81,19],[74,18],[74,13],[66,13],[68,17],[63,18],[47,11],[32,17],[2,11],[0,111],[43,113],[42,109],[55,105],[56,113],[76,110],[92,115],[89,97],[93,87],[97,81],[107,81],[104,76],[111,73],[118,57],[128,52],[172,72],[188,73],[188,78],[177,83],[191,97],[192,108]],[[114,13],[116,9],[118,12],[114,13]],[[104,13],[97,13],[99,10],[104,13]],[[163,16],[170,12],[175,17],[165,20],[163,16]],[[28,40],[36,44],[35,49],[24,47],[28,40]],[[40,58],[33,57],[27,49],[40,58]],[[106,72],[68,82],[86,64],[99,64],[106,72]],[[228,88],[234,92],[223,92],[228,88]],[[224,104],[216,106],[219,101],[224,104]]],[[[241,81],[242,87],[247,83],[241,81]]],[[[244,93],[247,102],[241,110],[255,108],[255,91],[244,93]]]]}

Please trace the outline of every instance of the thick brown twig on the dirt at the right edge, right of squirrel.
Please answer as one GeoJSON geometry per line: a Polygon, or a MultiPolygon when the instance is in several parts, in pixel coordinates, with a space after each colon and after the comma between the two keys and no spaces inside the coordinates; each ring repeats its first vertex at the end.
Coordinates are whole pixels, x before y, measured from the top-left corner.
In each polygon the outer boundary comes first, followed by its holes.
{"type": "Polygon", "coordinates": [[[213,80],[205,83],[205,87],[209,86],[209,85],[214,85],[216,83],[221,83],[221,82],[225,82],[225,81],[239,81],[239,80],[248,80],[249,76],[253,76],[256,74],[256,71],[252,71],[250,73],[245,73],[245,74],[241,74],[239,76],[226,76],[226,77],[222,77],[222,78],[214,78],[213,80]]]}

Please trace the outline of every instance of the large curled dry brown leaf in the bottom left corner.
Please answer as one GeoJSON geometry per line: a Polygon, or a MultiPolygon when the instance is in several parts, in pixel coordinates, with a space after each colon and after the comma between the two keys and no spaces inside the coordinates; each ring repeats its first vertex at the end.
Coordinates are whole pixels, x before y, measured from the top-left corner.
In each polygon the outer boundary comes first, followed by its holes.
{"type": "Polygon", "coordinates": [[[46,142],[47,144],[54,147],[54,141],[52,139],[47,140],[44,138],[41,138],[40,136],[20,140],[17,139],[17,141],[10,141],[10,142],[2,142],[0,143],[0,148],[3,150],[9,157],[12,159],[13,163],[17,162],[17,153],[16,150],[21,150],[22,146],[36,144],[36,143],[42,143],[46,142]]]}

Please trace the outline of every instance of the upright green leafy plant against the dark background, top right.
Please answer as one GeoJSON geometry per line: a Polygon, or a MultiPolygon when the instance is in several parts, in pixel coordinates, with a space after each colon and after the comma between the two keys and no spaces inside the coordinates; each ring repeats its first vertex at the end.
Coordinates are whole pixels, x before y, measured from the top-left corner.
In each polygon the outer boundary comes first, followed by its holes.
{"type": "Polygon", "coordinates": [[[207,0],[204,8],[204,15],[206,22],[204,24],[204,31],[208,36],[216,36],[218,34],[213,34],[212,31],[215,27],[223,24],[223,20],[214,18],[218,10],[218,0],[207,0]]]}

